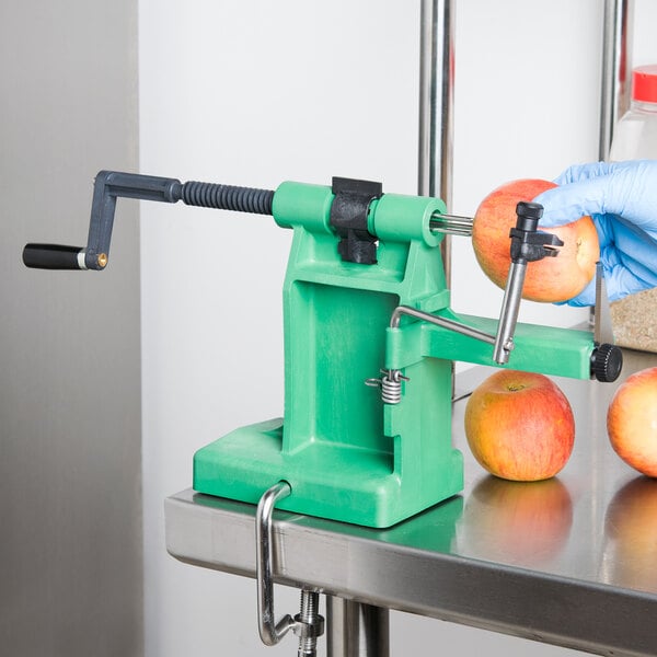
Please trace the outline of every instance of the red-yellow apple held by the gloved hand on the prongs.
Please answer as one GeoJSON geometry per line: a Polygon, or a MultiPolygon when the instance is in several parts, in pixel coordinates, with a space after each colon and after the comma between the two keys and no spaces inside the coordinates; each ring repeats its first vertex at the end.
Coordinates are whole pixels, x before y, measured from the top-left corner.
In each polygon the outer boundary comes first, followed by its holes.
{"type": "MultiPolygon", "coordinates": [[[[516,206],[552,187],[556,185],[540,178],[511,181],[480,204],[472,224],[472,246],[484,274],[498,287],[505,287],[511,262],[509,230],[516,226],[516,206]]],[[[600,260],[598,233],[590,217],[545,230],[564,245],[556,257],[528,264],[522,298],[550,303],[567,301],[579,295],[596,274],[600,260]]]]}

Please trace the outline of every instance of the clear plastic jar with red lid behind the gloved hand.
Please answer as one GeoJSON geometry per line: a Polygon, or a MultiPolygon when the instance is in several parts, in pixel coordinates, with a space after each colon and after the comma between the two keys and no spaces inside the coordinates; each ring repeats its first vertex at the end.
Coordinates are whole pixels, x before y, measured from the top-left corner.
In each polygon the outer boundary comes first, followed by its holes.
{"type": "MultiPolygon", "coordinates": [[[[609,159],[657,160],[657,65],[632,71],[632,102],[615,127],[609,159]]],[[[611,319],[618,345],[657,353],[657,288],[614,301],[611,319]]]]}

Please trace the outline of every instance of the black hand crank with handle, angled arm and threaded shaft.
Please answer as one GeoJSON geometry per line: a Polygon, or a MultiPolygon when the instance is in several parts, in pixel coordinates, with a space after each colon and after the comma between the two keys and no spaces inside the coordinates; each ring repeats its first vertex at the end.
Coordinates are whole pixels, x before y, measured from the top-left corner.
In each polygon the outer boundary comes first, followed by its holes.
{"type": "Polygon", "coordinates": [[[23,263],[37,269],[104,269],[110,254],[116,199],[137,198],[177,203],[206,208],[272,214],[274,192],[214,183],[181,183],[166,178],[119,171],[101,171],[94,182],[87,246],[26,244],[23,263]]]}

